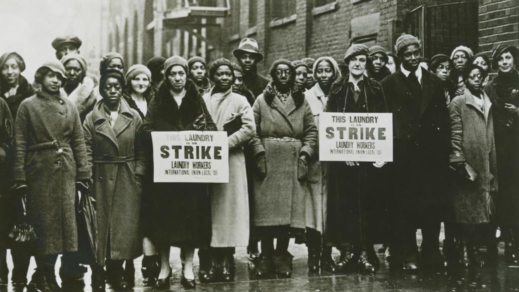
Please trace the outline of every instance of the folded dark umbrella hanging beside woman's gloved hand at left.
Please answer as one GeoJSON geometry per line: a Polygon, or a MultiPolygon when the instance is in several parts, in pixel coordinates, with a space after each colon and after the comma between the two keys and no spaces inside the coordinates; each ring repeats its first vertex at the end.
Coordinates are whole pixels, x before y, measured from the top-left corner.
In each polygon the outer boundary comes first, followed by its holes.
{"type": "Polygon", "coordinates": [[[88,247],[92,253],[91,259],[97,262],[97,211],[95,210],[95,199],[90,196],[89,192],[81,193],[77,191],[79,203],[77,205],[77,228],[78,233],[88,235],[88,247]]]}

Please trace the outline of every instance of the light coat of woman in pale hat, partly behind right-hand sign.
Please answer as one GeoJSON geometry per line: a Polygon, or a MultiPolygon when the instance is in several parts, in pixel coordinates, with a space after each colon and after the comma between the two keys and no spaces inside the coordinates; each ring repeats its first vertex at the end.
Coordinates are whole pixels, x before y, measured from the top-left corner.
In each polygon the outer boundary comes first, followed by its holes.
{"type": "MultiPolygon", "coordinates": [[[[319,83],[305,91],[305,99],[310,105],[313,120],[319,130],[319,114],[326,109],[328,97],[324,95],[319,83]]],[[[319,160],[308,165],[308,184],[310,192],[306,196],[306,227],[324,232],[326,220],[327,187],[325,167],[319,160]]]]}

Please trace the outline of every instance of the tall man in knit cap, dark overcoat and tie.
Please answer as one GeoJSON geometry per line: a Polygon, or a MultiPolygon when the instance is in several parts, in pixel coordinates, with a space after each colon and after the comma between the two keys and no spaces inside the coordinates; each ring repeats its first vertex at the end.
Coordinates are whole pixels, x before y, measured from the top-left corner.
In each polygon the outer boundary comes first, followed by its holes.
{"type": "Polygon", "coordinates": [[[416,270],[419,264],[438,267],[443,263],[439,235],[446,213],[449,113],[440,78],[419,65],[418,39],[402,34],[395,51],[402,60],[400,72],[381,81],[393,114],[391,264],[405,270],[416,270]],[[416,229],[423,237],[420,258],[416,229]]]}

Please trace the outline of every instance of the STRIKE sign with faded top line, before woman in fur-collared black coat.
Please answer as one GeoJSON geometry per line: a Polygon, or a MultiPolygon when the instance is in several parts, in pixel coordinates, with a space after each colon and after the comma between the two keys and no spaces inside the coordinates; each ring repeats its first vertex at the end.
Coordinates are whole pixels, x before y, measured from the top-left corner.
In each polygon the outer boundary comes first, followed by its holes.
{"type": "Polygon", "coordinates": [[[229,182],[224,131],[152,132],[154,182],[229,182]]]}

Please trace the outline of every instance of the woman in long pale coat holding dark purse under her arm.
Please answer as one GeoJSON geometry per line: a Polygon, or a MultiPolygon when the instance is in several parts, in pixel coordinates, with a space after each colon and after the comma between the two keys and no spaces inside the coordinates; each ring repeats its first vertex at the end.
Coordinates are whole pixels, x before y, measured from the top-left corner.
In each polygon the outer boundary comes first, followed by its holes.
{"type": "MultiPolygon", "coordinates": [[[[233,281],[234,248],[249,243],[249,195],[243,145],[254,137],[256,124],[252,108],[244,96],[233,92],[233,65],[227,59],[215,60],[209,70],[214,87],[203,96],[218,130],[233,115],[241,116],[239,128],[228,131],[229,183],[210,185],[211,254],[223,281],[233,281]]],[[[236,126],[238,127],[238,126],[236,126]]]]}

